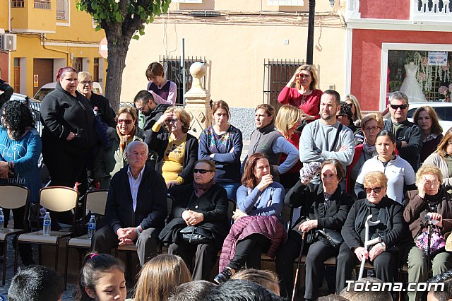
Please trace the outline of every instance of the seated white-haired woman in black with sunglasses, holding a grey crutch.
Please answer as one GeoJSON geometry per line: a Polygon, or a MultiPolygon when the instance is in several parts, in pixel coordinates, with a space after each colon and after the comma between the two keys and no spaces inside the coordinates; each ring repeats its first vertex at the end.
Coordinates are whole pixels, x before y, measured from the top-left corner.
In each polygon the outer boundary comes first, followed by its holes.
{"type": "Polygon", "coordinates": [[[353,203],[341,230],[344,243],[336,260],[336,292],[345,288],[345,281],[352,278],[352,271],[362,258],[374,266],[376,278],[385,283],[396,281],[398,253],[407,230],[403,206],[388,198],[387,190],[388,179],[383,172],[369,172],[364,177],[366,196],[353,203]],[[366,228],[369,237],[365,237],[366,228]],[[365,241],[379,237],[381,242],[364,248],[365,241]]]}

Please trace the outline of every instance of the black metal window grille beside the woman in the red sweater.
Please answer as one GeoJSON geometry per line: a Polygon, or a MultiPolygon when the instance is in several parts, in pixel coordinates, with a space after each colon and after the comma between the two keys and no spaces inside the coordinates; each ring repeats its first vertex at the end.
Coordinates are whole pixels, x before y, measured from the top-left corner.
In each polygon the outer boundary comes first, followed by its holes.
{"type": "Polygon", "coordinates": [[[304,61],[299,59],[263,60],[263,102],[273,105],[276,112],[281,107],[278,94],[302,64],[304,61]]]}

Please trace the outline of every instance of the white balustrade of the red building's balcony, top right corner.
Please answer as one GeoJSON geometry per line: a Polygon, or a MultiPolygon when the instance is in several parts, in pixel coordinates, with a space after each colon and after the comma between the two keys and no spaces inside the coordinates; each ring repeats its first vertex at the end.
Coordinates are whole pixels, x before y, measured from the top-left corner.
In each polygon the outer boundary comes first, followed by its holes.
{"type": "Polygon", "coordinates": [[[452,22],[452,0],[412,0],[412,21],[452,22]]]}

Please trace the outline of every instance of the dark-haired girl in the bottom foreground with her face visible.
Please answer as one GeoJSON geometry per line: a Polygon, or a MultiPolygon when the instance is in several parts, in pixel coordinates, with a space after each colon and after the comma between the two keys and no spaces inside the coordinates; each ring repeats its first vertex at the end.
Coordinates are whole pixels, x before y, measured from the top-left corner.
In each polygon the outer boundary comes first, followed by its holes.
{"type": "Polygon", "coordinates": [[[78,278],[80,301],[124,301],[126,279],[124,264],[109,254],[88,253],[78,278]],[[107,288],[107,289],[106,289],[107,288]]]}

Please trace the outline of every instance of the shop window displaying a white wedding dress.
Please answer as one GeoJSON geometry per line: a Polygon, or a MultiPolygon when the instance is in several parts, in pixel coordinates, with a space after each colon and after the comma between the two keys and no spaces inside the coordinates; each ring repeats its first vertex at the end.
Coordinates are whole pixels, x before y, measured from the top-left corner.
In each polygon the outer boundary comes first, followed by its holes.
{"type": "MultiPolygon", "coordinates": [[[[429,102],[450,100],[452,51],[388,51],[388,92],[402,90],[408,97],[422,91],[429,102]]],[[[420,101],[413,96],[412,102],[420,101]]]]}

